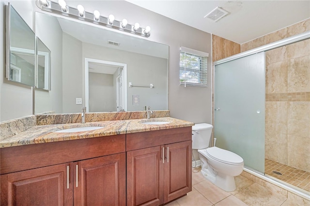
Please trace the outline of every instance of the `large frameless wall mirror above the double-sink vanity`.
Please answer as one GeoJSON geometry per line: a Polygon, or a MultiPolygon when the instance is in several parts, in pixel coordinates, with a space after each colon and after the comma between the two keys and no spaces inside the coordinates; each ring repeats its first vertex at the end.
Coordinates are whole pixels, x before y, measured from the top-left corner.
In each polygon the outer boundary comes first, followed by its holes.
{"type": "Polygon", "coordinates": [[[51,57],[51,90],[35,90],[36,114],[85,105],[89,112],[168,110],[167,45],[40,12],[35,33],[51,57]]]}

